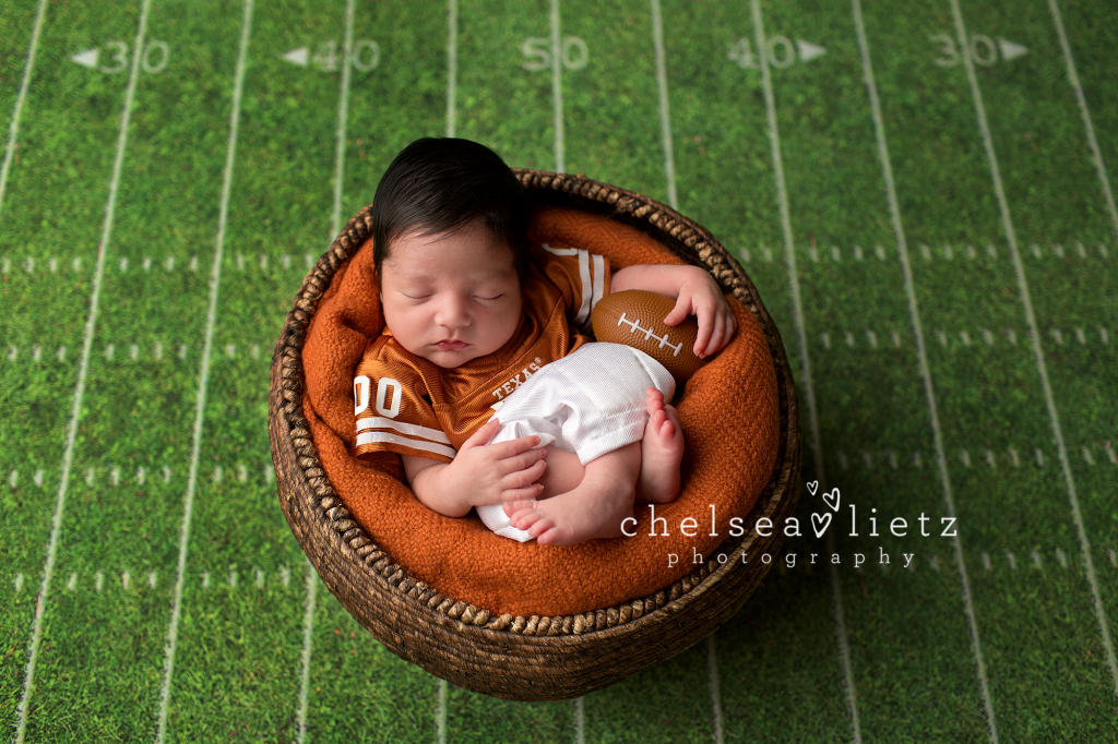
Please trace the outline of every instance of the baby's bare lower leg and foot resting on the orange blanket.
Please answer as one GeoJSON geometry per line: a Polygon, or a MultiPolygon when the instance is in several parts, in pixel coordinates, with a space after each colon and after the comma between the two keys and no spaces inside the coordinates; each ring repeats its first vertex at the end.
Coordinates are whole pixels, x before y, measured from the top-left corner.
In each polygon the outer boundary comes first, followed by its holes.
{"type": "Polygon", "coordinates": [[[619,537],[622,521],[633,516],[639,475],[641,443],[633,442],[590,460],[576,488],[523,506],[512,515],[510,524],[527,530],[541,545],[619,537]]]}

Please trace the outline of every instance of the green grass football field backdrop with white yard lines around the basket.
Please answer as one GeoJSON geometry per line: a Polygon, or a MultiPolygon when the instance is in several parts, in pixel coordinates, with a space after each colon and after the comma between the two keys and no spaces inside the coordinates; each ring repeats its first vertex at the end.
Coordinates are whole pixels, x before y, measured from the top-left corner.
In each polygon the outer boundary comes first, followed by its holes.
{"type": "Polygon", "coordinates": [[[1118,741],[1116,56],[1107,0],[0,3],[6,735],[1118,741]],[[574,703],[386,651],[276,502],[284,314],[447,133],[710,228],[821,481],[795,566],[574,703]]]}

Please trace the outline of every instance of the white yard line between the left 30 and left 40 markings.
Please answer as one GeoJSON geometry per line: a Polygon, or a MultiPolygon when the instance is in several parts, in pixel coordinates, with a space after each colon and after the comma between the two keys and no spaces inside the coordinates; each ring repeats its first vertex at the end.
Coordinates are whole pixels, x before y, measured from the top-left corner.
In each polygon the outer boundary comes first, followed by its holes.
{"type": "MultiPolygon", "coordinates": [[[[214,246],[214,267],[210,269],[209,308],[206,312],[206,340],[202,344],[201,369],[198,380],[198,399],[195,404],[193,441],[190,447],[190,470],[187,494],[182,505],[182,530],[179,533],[179,566],[174,580],[174,599],[171,603],[171,623],[167,632],[163,661],[163,683],[159,695],[159,733],[155,741],[162,744],[167,735],[167,712],[171,700],[171,677],[174,674],[174,651],[179,642],[179,616],[182,611],[182,586],[187,572],[187,550],[190,546],[190,519],[193,515],[195,486],[198,483],[198,460],[202,443],[202,420],[206,416],[206,392],[209,384],[210,353],[214,345],[214,323],[217,317],[217,296],[221,284],[221,255],[225,250],[225,226],[229,214],[229,195],[233,191],[233,164],[237,153],[237,130],[240,122],[240,95],[245,87],[245,60],[248,56],[248,31],[253,21],[253,0],[245,0],[240,26],[240,49],[233,88],[233,111],[229,114],[229,141],[225,152],[225,172],[221,179],[221,206],[218,213],[217,237],[214,246]]],[[[139,45],[138,45],[139,48],[139,45]]]]}

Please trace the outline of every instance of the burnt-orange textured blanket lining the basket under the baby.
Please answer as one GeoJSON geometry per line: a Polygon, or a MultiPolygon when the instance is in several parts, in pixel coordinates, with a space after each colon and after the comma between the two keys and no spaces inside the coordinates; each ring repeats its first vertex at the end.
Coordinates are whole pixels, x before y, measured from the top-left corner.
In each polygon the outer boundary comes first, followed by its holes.
{"type": "MultiPolygon", "coordinates": [[[[574,209],[538,209],[530,236],[607,256],[614,270],[682,263],[634,228],[574,209]]],[[[456,519],[420,504],[404,483],[398,456],[376,464],[353,457],[353,370],[383,325],[370,240],[339,268],[303,349],[304,412],[326,476],[395,562],[440,593],[491,613],[574,614],[651,594],[698,567],[695,556],[700,562],[711,556],[729,536],[730,518],[752,507],[776,461],[773,360],[749,311],[732,296],[727,299],[738,332],[678,397],[683,490],[674,503],[656,506],[656,534],[650,534],[650,507],[638,505],[634,537],[561,547],[519,543],[490,532],[473,512],[456,519]]]]}

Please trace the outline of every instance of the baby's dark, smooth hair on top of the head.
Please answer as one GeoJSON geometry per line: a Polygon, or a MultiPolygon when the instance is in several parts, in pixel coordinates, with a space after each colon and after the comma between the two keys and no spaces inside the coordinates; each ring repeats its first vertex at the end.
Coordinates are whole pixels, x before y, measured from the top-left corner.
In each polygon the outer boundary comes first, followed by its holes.
{"type": "Polygon", "coordinates": [[[415,230],[453,232],[471,222],[512,250],[523,279],[528,268],[528,198],[501,156],[454,137],[416,140],[385,171],[372,199],[372,260],[380,277],[392,240],[415,230]]]}

